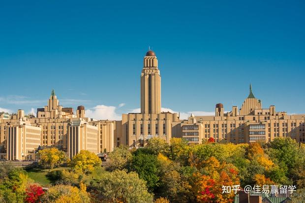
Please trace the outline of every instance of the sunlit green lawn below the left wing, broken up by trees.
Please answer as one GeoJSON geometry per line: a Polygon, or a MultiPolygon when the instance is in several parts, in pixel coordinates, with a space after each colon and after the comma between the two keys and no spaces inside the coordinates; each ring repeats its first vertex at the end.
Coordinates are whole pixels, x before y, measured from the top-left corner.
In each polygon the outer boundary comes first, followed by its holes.
{"type": "MultiPolygon", "coordinates": [[[[60,167],[51,169],[50,171],[62,171],[62,170],[70,170],[70,167],[60,167]]],[[[46,186],[48,184],[52,184],[54,180],[51,180],[48,178],[49,170],[40,170],[39,168],[29,169],[27,170],[28,175],[31,179],[33,179],[35,182],[41,184],[42,186],[46,186]]],[[[99,177],[103,173],[108,173],[104,168],[94,169],[91,174],[85,176],[83,180],[86,182],[86,184],[90,184],[90,181],[92,180],[94,183],[96,182],[96,178],[99,177]]]]}

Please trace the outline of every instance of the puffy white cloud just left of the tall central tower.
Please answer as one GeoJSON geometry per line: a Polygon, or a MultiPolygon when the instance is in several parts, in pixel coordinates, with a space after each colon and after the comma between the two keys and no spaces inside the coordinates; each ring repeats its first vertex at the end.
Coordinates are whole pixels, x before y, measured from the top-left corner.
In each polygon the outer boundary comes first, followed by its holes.
{"type": "Polygon", "coordinates": [[[116,113],[117,107],[97,105],[86,110],[86,116],[97,120],[122,120],[122,116],[116,113]]]}

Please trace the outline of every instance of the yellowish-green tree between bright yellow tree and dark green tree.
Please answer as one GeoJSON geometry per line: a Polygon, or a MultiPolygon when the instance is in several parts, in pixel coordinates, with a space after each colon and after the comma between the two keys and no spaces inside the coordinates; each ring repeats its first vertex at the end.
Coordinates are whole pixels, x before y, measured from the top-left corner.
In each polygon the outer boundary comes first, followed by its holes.
{"type": "Polygon", "coordinates": [[[126,168],[129,161],[132,159],[132,154],[128,150],[128,146],[120,145],[109,154],[110,170],[122,170],[126,168]]]}

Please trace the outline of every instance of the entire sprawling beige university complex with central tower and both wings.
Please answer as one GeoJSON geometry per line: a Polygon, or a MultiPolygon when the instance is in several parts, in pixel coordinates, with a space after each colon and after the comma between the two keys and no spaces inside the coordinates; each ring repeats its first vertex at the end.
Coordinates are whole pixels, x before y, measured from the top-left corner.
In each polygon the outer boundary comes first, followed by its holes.
{"type": "Polygon", "coordinates": [[[264,109],[249,95],[241,108],[224,111],[222,103],[215,105],[214,116],[179,114],[161,111],[161,75],[153,51],[144,57],[141,72],[141,112],[122,114],[121,121],[94,120],[86,117],[84,106],[74,112],[63,107],[53,90],[36,116],[0,113],[0,158],[8,160],[35,159],[38,147],[57,147],[72,158],[81,150],[96,154],[111,152],[114,147],[144,147],[152,137],[170,142],[172,137],[184,138],[190,145],[213,137],[215,142],[269,142],[275,137],[291,137],[305,143],[305,114],[287,115],[276,112],[275,106],[264,109]]]}

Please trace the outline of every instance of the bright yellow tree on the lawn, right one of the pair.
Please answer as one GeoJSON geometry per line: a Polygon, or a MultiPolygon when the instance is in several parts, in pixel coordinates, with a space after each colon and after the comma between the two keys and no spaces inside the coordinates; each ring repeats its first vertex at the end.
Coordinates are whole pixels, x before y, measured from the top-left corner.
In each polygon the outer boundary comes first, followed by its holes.
{"type": "Polygon", "coordinates": [[[102,161],[100,158],[93,152],[87,150],[81,150],[78,154],[73,156],[71,161],[71,166],[75,170],[82,172],[86,175],[89,171],[92,171],[94,167],[100,167],[102,161]]]}

